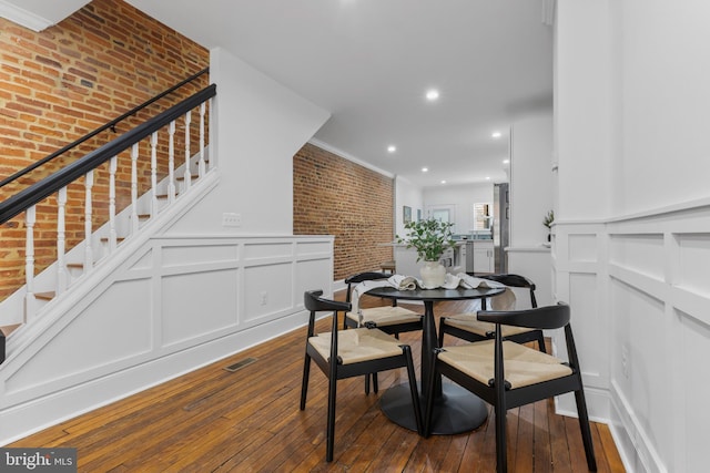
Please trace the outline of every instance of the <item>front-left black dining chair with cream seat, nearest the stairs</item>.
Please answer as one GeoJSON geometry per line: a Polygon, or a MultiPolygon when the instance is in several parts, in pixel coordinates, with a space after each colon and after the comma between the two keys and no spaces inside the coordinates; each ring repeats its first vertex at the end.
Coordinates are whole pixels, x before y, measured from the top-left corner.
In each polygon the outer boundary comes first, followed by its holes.
{"type": "Polygon", "coordinates": [[[325,299],[321,297],[322,295],[322,290],[311,290],[304,295],[305,307],[311,311],[311,316],[308,318],[308,335],[303,364],[301,410],[303,411],[306,408],[308,376],[311,360],[313,360],[328,378],[326,461],[333,461],[336,387],[337,381],[341,379],[406,368],[417,432],[422,434],[424,426],[419,408],[419,393],[409,346],[400,343],[396,338],[377,328],[361,327],[338,330],[337,315],[338,312],[351,310],[351,304],[325,299]],[[332,330],[316,335],[315,316],[316,312],[321,311],[333,312],[332,330]]]}

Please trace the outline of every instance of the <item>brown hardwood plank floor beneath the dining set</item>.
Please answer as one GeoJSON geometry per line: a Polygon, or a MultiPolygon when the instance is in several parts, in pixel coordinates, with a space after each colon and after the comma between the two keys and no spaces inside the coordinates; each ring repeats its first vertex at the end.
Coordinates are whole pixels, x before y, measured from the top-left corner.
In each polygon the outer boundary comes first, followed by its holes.
{"type": "MultiPolygon", "coordinates": [[[[458,312],[467,304],[438,304],[435,312],[458,312]]],[[[417,370],[418,337],[402,336],[417,370]]],[[[474,432],[423,439],[388,421],[377,395],[365,395],[362,378],[338,382],[335,459],[327,464],[327,385],[315,366],[306,410],[298,410],[304,343],[305,328],[8,446],[77,448],[79,471],[92,473],[495,471],[493,412],[474,432]],[[224,369],[248,357],[256,361],[224,369]]],[[[381,373],[381,393],[404,373],[381,373]]],[[[510,472],[587,471],[577,420],[556,415],[551,400],[508,411],[507,423],[510,472]]],[[[592,423],[592,436],[598,471],[622,472],[607,425],[592,423]]]]}

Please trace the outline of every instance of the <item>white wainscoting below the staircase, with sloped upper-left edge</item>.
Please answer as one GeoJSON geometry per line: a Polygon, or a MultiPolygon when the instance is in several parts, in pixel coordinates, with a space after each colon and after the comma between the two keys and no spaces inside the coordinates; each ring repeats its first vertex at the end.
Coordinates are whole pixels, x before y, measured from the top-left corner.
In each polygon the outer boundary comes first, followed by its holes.
{"type": "Polygon", "coordinates": [[[333,294],[329,236],[126,239],[37,321],[0,367],[0,444],[307,322],[333,294]]]}

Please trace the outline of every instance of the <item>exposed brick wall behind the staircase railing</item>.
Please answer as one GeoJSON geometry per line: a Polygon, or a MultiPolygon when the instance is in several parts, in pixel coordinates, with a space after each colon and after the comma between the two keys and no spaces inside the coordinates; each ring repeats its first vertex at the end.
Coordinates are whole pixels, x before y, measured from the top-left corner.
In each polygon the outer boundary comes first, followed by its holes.
{"type": "MultiPolygon", "coordinates": [[[[59,24],[34,32],[0,19],[0,179],[51,154],[88,132],[120,116],[209,65],[209,52],[121,0],[94,0],[59,24]]],[[[156,104],[150,111],[104,132],[72,155],[48,166],[36,182],[88,150],[106,143],[146,116],[164,110],[207,85],[194,86],[156,104]]],[[[192,130],[197,126],[193,115],[192,130]]],[[[184,126],[184,125],[183,125],[184,126]]],[[[180,127],[180,122],[178,122],[180,127]]],[[[183,150],[176,133],[175,150],[183,150]]],[[[197,146],[197,140],[191,143],[197,146]]],[[[160,145],[164,157],[165,144],[160,145]]],[[[142,154],[146,151],[142,150],[142,154]]],[[[184,160],[184,157],[183,157],[184,160]]],[[[165,174],[164,158],[159,172],[165,174]]],[[[140,173],[148,173],[141,162],[140,173]]],[[[104,166],[105,167],[105,166],[104,166]]],[[[130,202],[128,153],[119,156],[118,206],[130,202]]],[[[108,217],[108,173],[94,176],[94,228],[108,217]],[[103,219],[103,220],[102,220],[103,219]]],[[[0,189],[0,199],[19,186],[0,189]]],[[[144,189],[141,189],[144,191],[144,189]]],[[[69,187],[68,245],[83,239],[83,187],[69,187]]],[[[38,205],[37,270],[55,259],[55,197],[38,205]],[[49,212],[45,212],[49,210],[49,212]]],[[[24,282],[23,216],[0,226],[0,299],[24,282]]]]}

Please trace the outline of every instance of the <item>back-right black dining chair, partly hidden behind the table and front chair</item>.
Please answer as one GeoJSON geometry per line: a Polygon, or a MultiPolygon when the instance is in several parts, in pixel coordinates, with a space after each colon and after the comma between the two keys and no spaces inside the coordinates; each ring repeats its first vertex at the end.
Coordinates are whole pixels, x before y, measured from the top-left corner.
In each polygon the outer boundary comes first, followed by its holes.
{"type": "MultiPolygon", "coordinates": [[[[500,282],[507,287],[526,288],[530,292],[530,306],[537,307],[535,298],[535,282],[520,275],[485,275],[479,276],[481,279],[489,279],[500,282]]],[[[452,317],[442,317],[439,319],[439,347],[444,346],[444,335],[462,338],[467,341],[480,341],[491,339],[496,336],[493,323],[487,323],[476,318],[476,312],[457,313],[452,317]]],[[[530,329],[527,327],[509,327],[503,326],[503,337],[518,343],[528,341],[537,341],[539,350],[546,352],[545,335],[542,330],[530,329]]]]}

